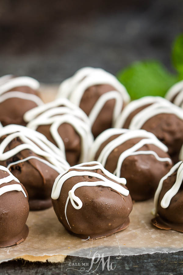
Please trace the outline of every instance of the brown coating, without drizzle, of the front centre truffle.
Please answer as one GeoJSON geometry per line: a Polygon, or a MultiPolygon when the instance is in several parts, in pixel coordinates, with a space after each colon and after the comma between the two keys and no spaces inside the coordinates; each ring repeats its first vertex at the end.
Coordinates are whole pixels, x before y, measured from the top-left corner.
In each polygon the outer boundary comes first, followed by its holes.
{"type": "MultiPolygon", "coordinates": [[[[71,168],[69,171],[80,170],[71,168]]],[[[100,169],[92,172],[106,177],[100,169]]],[[[52,200],[59,221],[70,233],[82,239],[90,237],[90,240],[106,237],[125,229],[129,224],[128,216],[132,210],[131,196],[123,196],[117,191],[102,185],[82,186],[75,190],[75,195],[81,199],[83,205],[77,210],[69,201],[66,210],[71,228],[69,227],[65,217],[68,192],[78,182],[87,181],[96,182],[100,179],[90,176],[74,176],[63,183],[59,198],[52,200]]],[[[124,188],[127,189],[126,186],[124,188]]]]}

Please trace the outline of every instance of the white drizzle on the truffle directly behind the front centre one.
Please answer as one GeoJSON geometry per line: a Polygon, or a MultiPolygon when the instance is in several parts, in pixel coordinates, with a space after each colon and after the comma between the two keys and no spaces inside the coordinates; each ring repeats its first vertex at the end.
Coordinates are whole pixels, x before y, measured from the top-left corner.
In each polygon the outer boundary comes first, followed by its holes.
{"type": "Polygon", "coordinates": [[[81,138],[79,163],[88,160],[88,152],[93,143],[91,123],[86,114],[66,98],[60,98],[48,104],[35,107],[26,112],[24,119],[29,121],[27,127],[37,130],[41,125],[51,125],[50,134],[59,149],[65,154],[65,146],[58,128],[63,123],[70,124],[81,138]]]}

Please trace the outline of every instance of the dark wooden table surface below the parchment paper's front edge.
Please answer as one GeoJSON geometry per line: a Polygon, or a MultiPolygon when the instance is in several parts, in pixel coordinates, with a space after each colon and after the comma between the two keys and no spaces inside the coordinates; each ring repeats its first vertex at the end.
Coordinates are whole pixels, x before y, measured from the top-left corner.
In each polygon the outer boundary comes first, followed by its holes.
{"type": "Polygon", "coordinates": [[[4,262],[0,265],[0,274],[31,274],[31,275],[61,275],[61,274],[183,274],[183,251],[175,253],[154,253],[134,256],[110,256],[104,258],[104,262],[109,260],[102,267],[102,261],[99,260],[91,267],[91,259],[67,256],[63,263],[40,263],[40,262],[23,262],[21,260],[4,262]],[[109,270],[112,264],[114,270],[109,270]],[[72,265],[72,266],[71,266],[72,265]],[[80,269],[85,267],[84,271],[80,269]],[[89,272],[86,270],[90,269],[89,272]],[[71,269],[73,268],[73,269],[71,269]]]}

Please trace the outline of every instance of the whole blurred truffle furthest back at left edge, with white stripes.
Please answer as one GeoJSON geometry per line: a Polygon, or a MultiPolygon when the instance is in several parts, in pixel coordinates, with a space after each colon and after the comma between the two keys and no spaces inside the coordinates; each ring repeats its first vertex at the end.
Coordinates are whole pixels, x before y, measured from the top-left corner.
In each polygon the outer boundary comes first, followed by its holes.
{"type": "Polygon", "coordinates": [[[5,75],[0,78],[0,122],[3,126],[26,125],[24,113],[43,104],[38,88],[39,82],[31,77],[5,75]]]}

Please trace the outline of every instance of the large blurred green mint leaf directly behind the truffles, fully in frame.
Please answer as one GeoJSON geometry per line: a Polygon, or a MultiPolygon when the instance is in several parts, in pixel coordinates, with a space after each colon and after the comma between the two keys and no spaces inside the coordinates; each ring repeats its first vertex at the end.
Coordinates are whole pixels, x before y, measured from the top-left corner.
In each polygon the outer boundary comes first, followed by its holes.
{"type": "Polygon", "coordinates": [[[127,88],[131,99],[144,96],[162,96],[178,81],[178,78],[158,61],[135,62],[117,74],[118,80],[127,88]]]}

